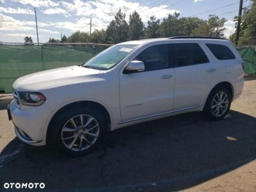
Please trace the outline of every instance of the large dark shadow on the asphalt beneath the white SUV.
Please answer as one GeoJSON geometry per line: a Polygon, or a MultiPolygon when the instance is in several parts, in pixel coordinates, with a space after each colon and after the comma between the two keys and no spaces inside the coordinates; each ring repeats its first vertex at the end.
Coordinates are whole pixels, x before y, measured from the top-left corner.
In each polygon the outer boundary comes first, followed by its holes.
{"type": "Polygon", "coordinates": [[[77,158],[14,139],[0,154],[0,189],[43,182],[52,191],[180,191],[255,160],[255,127],[255,117],[235,111],[217,122],[182,114],[110,132],[77,158]]]}

